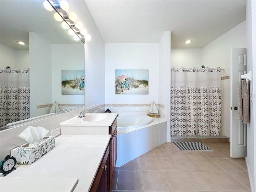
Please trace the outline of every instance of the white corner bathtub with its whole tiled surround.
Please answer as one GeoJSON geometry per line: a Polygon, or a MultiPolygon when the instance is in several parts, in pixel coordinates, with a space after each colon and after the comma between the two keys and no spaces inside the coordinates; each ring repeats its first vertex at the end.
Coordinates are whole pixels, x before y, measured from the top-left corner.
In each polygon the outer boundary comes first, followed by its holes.
{"type": "Polygon", "coordinates": [[[167,123],[162,118],[127,115],[117,118],[117,162],[120,167],[166,142],[167,123]]]}

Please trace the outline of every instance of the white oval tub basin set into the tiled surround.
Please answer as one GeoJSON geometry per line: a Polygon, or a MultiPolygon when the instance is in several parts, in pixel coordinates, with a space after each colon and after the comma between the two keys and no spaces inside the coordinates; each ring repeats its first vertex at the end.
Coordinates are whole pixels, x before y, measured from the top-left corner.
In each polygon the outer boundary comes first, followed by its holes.
{"type": "Polygon", "coordinates": [[[126,115],[117,118],[118,130],[145,126],[153,121],[152,117],[145,115],[126,115]]]}

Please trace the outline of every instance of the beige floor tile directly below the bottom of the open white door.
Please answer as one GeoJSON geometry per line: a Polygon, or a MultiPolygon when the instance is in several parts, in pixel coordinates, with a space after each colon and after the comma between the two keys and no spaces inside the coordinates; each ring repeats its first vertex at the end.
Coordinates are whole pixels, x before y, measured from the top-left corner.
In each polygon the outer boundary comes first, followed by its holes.
{"type": "Polygon", "coordinates": [[[244,168],[242,168],[238,164],[234,163],[230,159],[212,159],[212,161],[226,171],[246,172],[246,170],[244,168]]]}

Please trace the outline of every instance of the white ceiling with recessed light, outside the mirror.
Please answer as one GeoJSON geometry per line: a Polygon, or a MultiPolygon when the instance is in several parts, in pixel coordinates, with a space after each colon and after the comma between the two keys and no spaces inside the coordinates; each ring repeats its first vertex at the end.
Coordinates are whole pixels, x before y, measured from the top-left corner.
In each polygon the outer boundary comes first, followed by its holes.
{"type": "Polygon", "coordinates": [[[172,48],[202,48],[246,20],[246,0],[85,1],[105,43],[158,43],[171,31],[172,48]]]}

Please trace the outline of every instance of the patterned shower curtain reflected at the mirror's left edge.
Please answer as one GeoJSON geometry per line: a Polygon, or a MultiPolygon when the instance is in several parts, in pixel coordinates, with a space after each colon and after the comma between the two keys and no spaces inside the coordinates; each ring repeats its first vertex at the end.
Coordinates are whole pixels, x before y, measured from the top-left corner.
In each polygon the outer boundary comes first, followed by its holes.
{"type": "Polygon", "coordinates": [[[29,69],[0,69],[0,127],[30,118],[29,69]]]}

